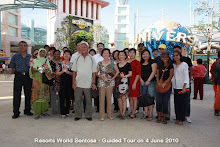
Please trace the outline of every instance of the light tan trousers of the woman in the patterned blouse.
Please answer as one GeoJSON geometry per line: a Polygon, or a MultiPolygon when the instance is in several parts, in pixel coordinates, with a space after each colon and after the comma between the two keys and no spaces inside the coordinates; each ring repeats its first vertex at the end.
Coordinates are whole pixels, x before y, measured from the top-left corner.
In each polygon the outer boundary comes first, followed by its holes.
{"type": "Polygon", "coordinates": [[[111,117],[111,98],[112,98],[112,87],[109,88],[99,88],[99,117],[105,117],[105,96],[107,101],[107,115],[111,117]]]}

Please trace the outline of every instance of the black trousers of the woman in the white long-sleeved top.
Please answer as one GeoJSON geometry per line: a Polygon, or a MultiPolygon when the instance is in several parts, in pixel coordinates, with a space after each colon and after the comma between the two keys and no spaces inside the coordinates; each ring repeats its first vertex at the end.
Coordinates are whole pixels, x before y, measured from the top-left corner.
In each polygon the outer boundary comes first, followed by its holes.
{"type": "Polygon", "coordinates": [[[174,106],[176,120],[184,121],[186,114],[186,100],[188,92],[184,94],[178,94],[182,89],[174,89],[174,106]]]}

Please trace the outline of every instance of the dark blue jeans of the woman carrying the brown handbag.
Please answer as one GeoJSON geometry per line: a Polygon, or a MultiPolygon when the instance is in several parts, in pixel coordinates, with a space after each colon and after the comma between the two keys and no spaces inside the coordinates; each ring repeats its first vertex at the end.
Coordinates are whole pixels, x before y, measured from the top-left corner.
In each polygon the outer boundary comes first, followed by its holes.
{"type": "Polygon", "coordinates": [[[171,88],[165,93],[157,92],[157,112],[163,112],[163,114],[168,114],[168,104],[170,102],[171,88]]]}

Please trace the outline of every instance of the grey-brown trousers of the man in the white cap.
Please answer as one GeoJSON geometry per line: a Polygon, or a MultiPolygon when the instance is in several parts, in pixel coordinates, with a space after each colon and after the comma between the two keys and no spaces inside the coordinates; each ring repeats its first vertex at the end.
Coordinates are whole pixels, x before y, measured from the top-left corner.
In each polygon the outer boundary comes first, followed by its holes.
{"type": "Polygon", "coordinates": [[[92,98],[91,98],[91,88],[79,88],[76,87],[74,91],[75,95],[75,117],[82,118],[82,96],[83,93],[86,99],[86,112],[85,117],[92,117],[92,98]]]}

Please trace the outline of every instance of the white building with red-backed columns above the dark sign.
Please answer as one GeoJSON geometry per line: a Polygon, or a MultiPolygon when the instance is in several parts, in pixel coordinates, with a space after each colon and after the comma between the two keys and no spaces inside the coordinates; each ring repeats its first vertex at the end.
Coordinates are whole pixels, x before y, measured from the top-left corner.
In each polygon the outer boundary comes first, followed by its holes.
{"type": "MultiPolygon", "coordinates": [[[[101,10],[109,5],[108,2],[102,0],[49,0],[57,5],[56,10],[48,10],[47,22],[47,44],[56,45],[55,32],[57,28],[61,28],[61,22],[66,16],[74,16],[73,25],[90,26],[91,24],[101,24],[101,10]]],[[[86,27],[80,28],[87,29],[86,27]]]]}

